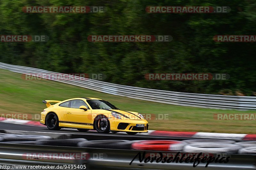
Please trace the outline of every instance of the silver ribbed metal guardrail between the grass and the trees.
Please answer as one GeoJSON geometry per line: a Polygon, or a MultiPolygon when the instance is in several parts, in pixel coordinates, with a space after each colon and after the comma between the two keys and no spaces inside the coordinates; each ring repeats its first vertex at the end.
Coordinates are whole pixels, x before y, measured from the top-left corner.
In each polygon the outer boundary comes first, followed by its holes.
{"type": "MultiPolygon", "coordinates": [[[[0,62],[0,68],[22,74],[60,74],[32,67],[16,66],[0,62]]],[[[134,99],[168,103],[180,106],[192,106],[212,109],[256,110],[256,97],[224,96],[196,93],[182,93],[156,89],[145,89],[118,85],[92,79],[84,80],[54,80],[86,89],[134,99]]]]}

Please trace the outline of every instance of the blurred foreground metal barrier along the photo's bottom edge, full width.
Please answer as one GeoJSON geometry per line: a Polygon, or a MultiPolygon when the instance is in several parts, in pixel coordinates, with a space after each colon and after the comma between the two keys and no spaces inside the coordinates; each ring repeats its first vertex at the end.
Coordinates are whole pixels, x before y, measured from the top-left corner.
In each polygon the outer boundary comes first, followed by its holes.
{"type": "MultiPolygon", "coordinates": [[[[230,144],[229,144],[230,145],[230,144]]],[[[104,148],[84,148],[84,147],[63,147],[63,146],[43,146],[43,145],[22,145],[22,144],[6,144],[0,143],[0,165],[51,165],[63,166],[80,165],[86,166],[89,170],[130,170],[130,169],[173,169],[173,170],[190,170],[190,169],[256,169],[255,155],[239,155],[239,154],[198,154],[202,156],[191,161],[180,162],[181,155],[185,158],[194,153],[186,152],[164,152],[164,151],[139,151],[139,150],[121,150],[121,149],[104,149],[104,148]],[[61,155],[74,155],[75,157],[63,157],[61,155]],[[157,155],[163,155],[158,158],[157,155]],[[53,155],[53,156],[52,156],[53,155]],[[173,156],[174,155],[174,156],[173,156]],[[178,155],[175,159],[175,155],[178,155]],[[202,161],[206,156],[206,161],[202,161]],[[164,158],[168,159],[164,160],[164,158]],[[179,157],[179,159],[178,159],[179,157]],[[151,162],[153,158],[153,161],[151,162]],[[169,159],[171,158],[171,159],[169,159]],[[225,162],[222,162],[224,158],[225,162]],[[175,160],[174,160],[175,159],[175,160]],[[157,162],[161,160],[161,162],[157,162]],[[178,161],[177,161],[178,160],[178,161]],[[221,160],[221,161],[220,161],[221,160]],[[163,162],[162,162],[163,161],[163,162]],[[194,165],[195,164],[195,165],[194,165]],[[193,165],[195,168],[193,168],[193,165]]],[[[198,156],[197,155],[197,156],[198,156]]],[[[198,156],[198,157],[199,157],[198,156]]],[[[71,167],[71,166],[70,166],[71,167]]],[[[15,168],[12,168],[15,169],[15,168]]],[[[25,169],[25,168],[24,168],[25,169]]],[[[70,169],[70,168],[59,168],[70,169]]],[[[84,168],[79,168],[84,169],[84,168]]]]}

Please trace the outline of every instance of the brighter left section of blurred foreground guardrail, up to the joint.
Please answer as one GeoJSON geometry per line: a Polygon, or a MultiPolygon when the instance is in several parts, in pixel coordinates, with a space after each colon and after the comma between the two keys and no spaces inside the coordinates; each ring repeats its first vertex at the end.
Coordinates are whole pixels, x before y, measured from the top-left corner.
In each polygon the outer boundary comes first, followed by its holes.
{"type": "MultiPolygon", "coordinates": [[[[70,167],[71,165],[87,164],[87,160],[90,159],[90,155],[83,152],[83,150],[78,147],[0,143],[0,150],[0,165],[2,168],[4,165],[11,166],[9,169],[30,169],[21,166],[55,166],[55,168],[57,166],[70,167]]],[[[34,169],[46,168],[35,167],[34,169]]]]}

